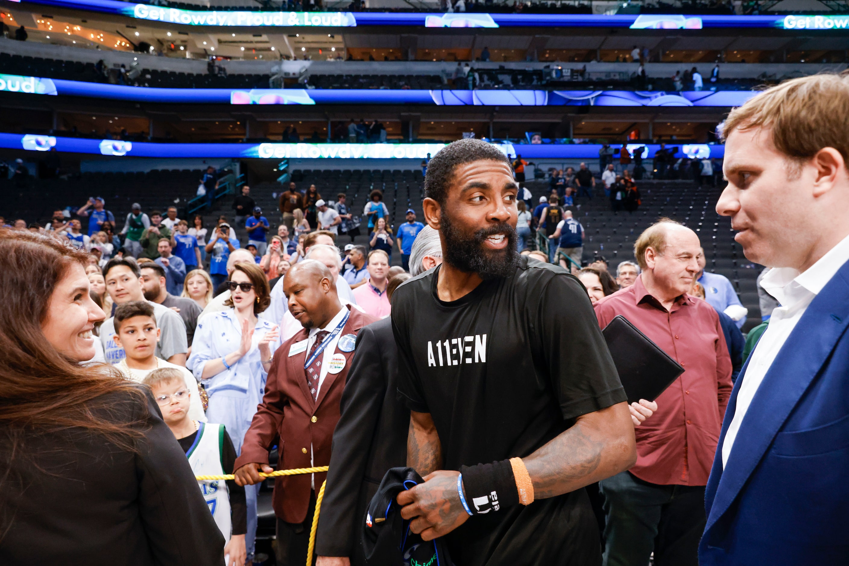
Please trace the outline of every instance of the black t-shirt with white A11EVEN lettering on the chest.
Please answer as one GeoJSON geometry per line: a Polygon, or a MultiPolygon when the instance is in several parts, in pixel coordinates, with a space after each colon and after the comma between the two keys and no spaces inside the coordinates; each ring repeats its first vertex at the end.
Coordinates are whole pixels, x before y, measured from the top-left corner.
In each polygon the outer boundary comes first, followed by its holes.
{"type": "MultiPolygon", "coordinates": [[[[523,256],[511,277],[438,298],[439,267],[392,297],[399,398],[430,412],[443,468],[526,457],[576,417],[626,401],[583,285],[523,256]]],[[[453,560],[600,563],[585,490],[469,518],[447,535],[453,560]]]]}

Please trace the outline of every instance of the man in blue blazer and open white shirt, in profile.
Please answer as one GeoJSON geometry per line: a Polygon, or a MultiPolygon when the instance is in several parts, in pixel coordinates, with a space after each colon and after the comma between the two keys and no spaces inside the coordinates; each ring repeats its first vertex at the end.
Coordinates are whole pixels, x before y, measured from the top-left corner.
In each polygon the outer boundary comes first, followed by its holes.
{"type": "Polygon", "coordinates": [[[701,566],[849,564],[849,77],[784,81],[723,127],[731,216],[772,267],[706,488],[701,566]],[[789,211],[792,210],[790,214],[789,211]]]}

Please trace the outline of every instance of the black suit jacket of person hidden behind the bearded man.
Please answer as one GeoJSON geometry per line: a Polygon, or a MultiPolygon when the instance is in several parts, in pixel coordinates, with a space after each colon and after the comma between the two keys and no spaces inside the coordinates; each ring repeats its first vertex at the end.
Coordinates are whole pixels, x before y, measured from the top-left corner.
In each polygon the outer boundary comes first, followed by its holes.
{"type": "Polygon", "coordinates": [[[363,328],[355,352],[333,433],[316,552],[363,564],[366,508],[386,470],[407,465],[410,411],[396,399],[398,351],[391,319],[363,328]]]}

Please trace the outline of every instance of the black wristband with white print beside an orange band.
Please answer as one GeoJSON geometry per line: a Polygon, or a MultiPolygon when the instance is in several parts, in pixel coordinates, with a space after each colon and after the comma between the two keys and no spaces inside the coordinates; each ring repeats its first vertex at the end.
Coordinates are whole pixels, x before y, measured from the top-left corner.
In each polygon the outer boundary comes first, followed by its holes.
{"type": "Polygon", "coordinates": [[[460,474],[472,514],[483,515],[519,504],[519,490],[509,460],[462,466],[460,474]]]}

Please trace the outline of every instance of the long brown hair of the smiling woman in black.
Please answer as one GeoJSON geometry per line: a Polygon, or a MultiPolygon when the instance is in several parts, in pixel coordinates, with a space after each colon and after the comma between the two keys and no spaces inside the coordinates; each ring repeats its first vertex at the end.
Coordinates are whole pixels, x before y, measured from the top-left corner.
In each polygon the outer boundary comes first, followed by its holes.
{"type": "Polygon", "coordinates": [[[34,437],[82,429],[121,450],[137,451],[143,436],[138,426],[148,417],[143,391],[108,364],[68,359],[42,333],[53,289],[70,266],[85,265],[86,256],[57,238],[0,228],[0,469],[5,470],[0,493],[25,467],[36,466],[27,450],[34,437]],[[142,407],[134,412],[138,420],[122,416],[126,405],[108,395],[115,393],[123,394],[119,401],[142,407]]]}

